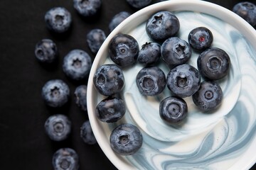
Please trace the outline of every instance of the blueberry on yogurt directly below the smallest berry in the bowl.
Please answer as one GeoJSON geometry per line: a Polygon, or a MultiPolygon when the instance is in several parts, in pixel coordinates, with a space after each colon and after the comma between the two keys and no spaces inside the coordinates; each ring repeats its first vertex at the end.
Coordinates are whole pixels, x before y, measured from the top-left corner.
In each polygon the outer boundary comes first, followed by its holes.
{"type": "Polygon", "coordinates": [[[139,92],[144,96],[156,96],[164,91],[166,77],[159,67],[144,67],[136,77],[139,92]]]}

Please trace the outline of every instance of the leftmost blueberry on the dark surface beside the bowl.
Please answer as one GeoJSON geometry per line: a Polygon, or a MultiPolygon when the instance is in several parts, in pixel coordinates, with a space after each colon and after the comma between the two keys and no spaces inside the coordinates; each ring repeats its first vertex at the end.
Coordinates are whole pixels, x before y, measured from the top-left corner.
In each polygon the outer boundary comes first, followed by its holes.
{"type": "Polygon", "coordinates": [[[35,48],[35,55],[36,59],[39,62],[54,62],[58,56],[58,49],[55,42],[50,39],[43,39],[37,42],[35,48]]]}

